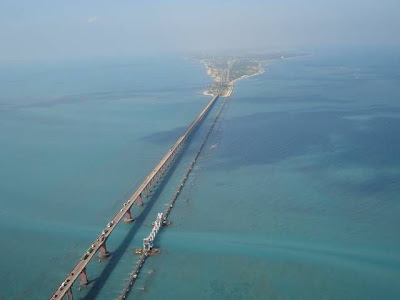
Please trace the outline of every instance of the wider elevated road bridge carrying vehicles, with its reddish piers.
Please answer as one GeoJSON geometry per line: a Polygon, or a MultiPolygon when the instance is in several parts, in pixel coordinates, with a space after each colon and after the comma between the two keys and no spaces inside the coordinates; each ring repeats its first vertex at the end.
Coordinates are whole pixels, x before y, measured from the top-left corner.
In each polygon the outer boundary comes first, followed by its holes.
{"type": "Polygon", "coordinates": [[[161,172],[168,166],[169,162],[174,159],[175,155],[179,152],[180,148],[196,128],[197,125],[201,122],[204,116],[208,113],[210,108],[213,106],[215,101],[218,99],[218,95],[210,100],[210,102],[206,105],[206,107],[200,112],[197,118],[189,125],[183,135],[175,142],[172,148],[165,154],[165,156],[160,160],[157,166],[150,172],[149,176],[142,182],[142,184],[136,189],[136,191],[132,194],[129,200],[124,203],[124,206],[121,210],[119,210],[115,216],[110,220],[108,224],[112,224],[110,227],[106,227],[102,233],[96,238],[96,240],[92,243],[90,253],[86,252],[85,255],[78,261],[75,267],[69,272],[67,277],[61,283],[57,290],[53,293],[50,299],[62,299],[65,295],[67,298],[73,298],[72,295],[72,285],[81,276],[81,282],[83,284],[87,284],[87,276],[86,276],[86,266],[89,261],[94,257],[96,252],[100,249],[104,255],[107,255],[108,252],[106,250],[105,243],[107,238],[111,235],[115,227],[122,220],[125,215],[130,217],[131,207],[135,202],[141,203],[141,197],[143,191],[146,191],[148,187],[152,185],[154,181],[157,181],[159,175],[161,176],[161,172]],[[106,232],[105,232],[106,231],[106,232]]]}

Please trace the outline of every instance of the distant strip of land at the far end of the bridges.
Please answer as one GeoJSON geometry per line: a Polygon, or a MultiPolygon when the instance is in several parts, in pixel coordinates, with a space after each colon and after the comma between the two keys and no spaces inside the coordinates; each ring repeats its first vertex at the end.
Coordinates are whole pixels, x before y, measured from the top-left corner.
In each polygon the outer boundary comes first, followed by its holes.
{"type": "Polygon", "coordinates": [[[252,55],[194,55],[188,59],[200,60],[206,66],[207,74],[214,79],[204,92],[205,95],[229,97],[232,95],[236,81],[265,72],[262,63],[306,55],[308,54],[282,52],[252,55]]]}

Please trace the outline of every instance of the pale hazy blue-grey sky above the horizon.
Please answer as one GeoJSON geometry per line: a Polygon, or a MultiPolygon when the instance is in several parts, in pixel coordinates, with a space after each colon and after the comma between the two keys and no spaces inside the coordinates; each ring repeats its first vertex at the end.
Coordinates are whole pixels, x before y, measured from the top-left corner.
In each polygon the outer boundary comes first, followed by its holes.
{"type": "Polygon", "coordinates": [[[400,0],[0,0],[0,60],[400,44],[400,0]]]}

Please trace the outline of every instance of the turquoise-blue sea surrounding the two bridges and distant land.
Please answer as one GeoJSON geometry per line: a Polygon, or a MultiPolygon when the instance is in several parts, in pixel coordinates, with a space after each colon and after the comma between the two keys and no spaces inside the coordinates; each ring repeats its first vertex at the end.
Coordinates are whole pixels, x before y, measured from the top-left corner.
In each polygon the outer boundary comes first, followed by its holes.
{"type": "MultiPolygon", "coordinates": [[[[400,299],[400,49],[308,50],[235,85],[127,299],[400,299]]],[[[48,299],[211,99],[199,61],[0,65],[0,299],[48,299]]],[[[219,99],[74,299],[117,299],[219,99]]]]}

